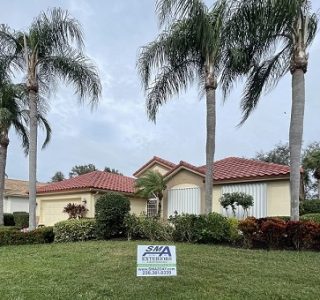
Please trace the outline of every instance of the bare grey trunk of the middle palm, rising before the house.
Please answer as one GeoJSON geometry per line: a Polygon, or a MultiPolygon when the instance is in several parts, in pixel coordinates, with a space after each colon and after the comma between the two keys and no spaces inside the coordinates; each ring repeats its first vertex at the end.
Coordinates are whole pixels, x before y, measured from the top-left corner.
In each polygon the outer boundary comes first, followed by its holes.
{"type": "Polygon", "coordinates": [[[207,144],[206,144],[206,179],[205,179],[205,213],[212,212],[213,161],[216,133],[216,88],[215,78],[209,74],[206,82],[207,104],[207,144]]]}

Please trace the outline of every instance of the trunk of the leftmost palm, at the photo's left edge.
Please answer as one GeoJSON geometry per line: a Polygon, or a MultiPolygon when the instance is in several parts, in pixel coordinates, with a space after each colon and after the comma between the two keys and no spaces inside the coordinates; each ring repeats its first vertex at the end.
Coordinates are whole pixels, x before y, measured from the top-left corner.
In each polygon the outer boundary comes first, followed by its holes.
{"type": "Polygon", "coordinates": [[[4,190],[5,190],[5,174],[6,174],[8,145],[9,145],[9,138],[8,138],[8,134],[5,133],[0,138],[0,226],[4,224],[3,201],[4,201],[4,190]]]}

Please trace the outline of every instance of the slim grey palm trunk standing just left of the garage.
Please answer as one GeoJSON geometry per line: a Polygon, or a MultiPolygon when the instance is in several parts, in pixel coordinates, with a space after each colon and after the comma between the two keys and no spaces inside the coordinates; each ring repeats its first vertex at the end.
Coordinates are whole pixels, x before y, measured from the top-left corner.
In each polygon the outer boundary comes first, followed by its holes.
{"type": "Polygon", "coordinates": [[[29,90],[30,140],[29,140],[29,229],[36,228],[36,184],[37,184],[37,93],[29,90]]]}

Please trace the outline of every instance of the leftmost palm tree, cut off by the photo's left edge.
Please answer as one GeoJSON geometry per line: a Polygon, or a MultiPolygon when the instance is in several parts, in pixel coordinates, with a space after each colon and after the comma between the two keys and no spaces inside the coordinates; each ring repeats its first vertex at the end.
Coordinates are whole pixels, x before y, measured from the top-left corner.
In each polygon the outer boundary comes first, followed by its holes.
{"type": "MultiPolygon", "coordinates": [[[[3,82],[0,85],[0,225],[3,225],[3,196],[5,189],[5,170],[7,152],[9,146],[9,131],[11,128],[21,138],[22,147],[28,153],[29,137],[26,123],[28,110],[26,109],[27,94],[23,85],[3,82]]],[[[43,148],[48,144],[51,137],[51,128],[44,118],[43,112],[38,114],[38,125],[46,130],[46,139],[43,148]]]]}

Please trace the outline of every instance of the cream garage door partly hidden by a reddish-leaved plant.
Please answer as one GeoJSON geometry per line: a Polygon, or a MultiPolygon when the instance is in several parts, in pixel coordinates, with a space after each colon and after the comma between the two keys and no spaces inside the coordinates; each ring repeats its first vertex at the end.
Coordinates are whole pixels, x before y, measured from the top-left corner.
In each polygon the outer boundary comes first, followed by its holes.
{"type": "Polygon", "coordinates": [[[68,214],[64,213],[63,209],[70,202],[77,204],[81,203],[80,200],[43,200],[41,202],[41,224],[52,226],[59,221],[67,220],[68,214]]]}

